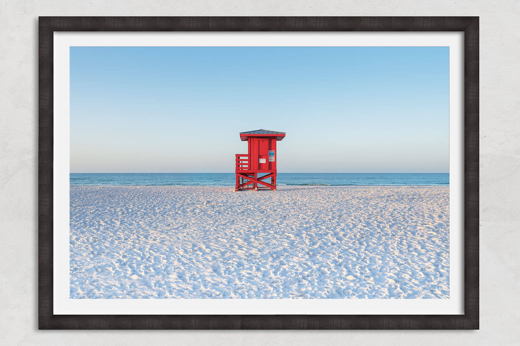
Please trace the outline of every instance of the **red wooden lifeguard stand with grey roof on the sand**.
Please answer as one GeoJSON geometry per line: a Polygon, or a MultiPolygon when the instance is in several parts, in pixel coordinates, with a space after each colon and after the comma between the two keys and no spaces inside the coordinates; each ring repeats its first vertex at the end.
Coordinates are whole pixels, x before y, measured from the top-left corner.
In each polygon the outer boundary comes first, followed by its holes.
{"type": "Polygon", "coordinates": [[[235,154],[235,191],[276,190],[276,141],[284,137],[285,132],[263,129],[240,132],[240,140],[248,141],[248,153],[235,154]],[[263,181],[269,178],[270,183],[263,181]]]}

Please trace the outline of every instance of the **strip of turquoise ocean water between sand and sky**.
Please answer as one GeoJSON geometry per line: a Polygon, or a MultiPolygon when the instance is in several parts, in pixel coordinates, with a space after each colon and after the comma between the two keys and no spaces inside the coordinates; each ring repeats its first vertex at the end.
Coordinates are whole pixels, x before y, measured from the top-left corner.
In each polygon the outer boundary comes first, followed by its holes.
{"type": "MultiPolygon", "coordinates": [[[[235,173],[71,173],[70,184],[235,186],[235,173]]],[[[277,185],[449,185],[449,174],[278,173],[277,185]]]]}

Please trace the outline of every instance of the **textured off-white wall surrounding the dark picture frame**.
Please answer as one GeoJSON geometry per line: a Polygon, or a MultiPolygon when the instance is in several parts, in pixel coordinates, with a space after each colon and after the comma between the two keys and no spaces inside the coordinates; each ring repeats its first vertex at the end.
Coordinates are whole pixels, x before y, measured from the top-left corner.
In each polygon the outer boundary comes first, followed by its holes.
{"type": "Polygon", "coordinates": [[[0,344],[516,344],[520,340],[520,2],[0,4],[0,344]],[[38,16],[480,16],[479,331],[38,331],[38,16]]]}

